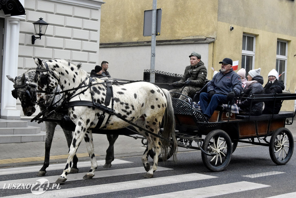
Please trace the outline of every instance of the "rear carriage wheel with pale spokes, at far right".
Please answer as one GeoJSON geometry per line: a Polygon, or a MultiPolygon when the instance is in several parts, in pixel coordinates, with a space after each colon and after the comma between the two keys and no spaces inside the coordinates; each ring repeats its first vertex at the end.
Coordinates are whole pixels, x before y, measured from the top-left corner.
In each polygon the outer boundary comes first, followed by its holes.
{"type": "Polygon", "coordinates": [[[273,132],[269,142],[269,154],[274,163],[284,165],[292,157],[294,139],[287,128],[279,128],[273,132]]]}

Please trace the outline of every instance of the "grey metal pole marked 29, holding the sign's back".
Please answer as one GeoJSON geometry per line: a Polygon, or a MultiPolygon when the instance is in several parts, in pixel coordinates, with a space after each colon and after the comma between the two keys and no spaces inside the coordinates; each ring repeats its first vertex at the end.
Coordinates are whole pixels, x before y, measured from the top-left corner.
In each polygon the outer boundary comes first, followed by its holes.
{"type": "Polygon", "coordinates": [[[152,5],[152,31],[151,31],[151,61],[150,61],[150,82],[155,82],[155,45],[156,45],[156,10],[157,0],[152,5]]]}

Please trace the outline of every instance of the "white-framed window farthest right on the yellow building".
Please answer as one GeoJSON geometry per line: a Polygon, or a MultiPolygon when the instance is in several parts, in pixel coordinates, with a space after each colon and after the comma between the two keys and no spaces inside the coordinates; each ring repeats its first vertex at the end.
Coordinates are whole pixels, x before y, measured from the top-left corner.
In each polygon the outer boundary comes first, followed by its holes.
{"type": "Polygon", "coordinates": [[[284,71],[287,71],[287,49],[288,43],[287,41],[277,41],[276,43],[276,71],[279,73],[279,80],[284,81],[284,85],[286,87],[286,72],[282,74],[284,71]]]}

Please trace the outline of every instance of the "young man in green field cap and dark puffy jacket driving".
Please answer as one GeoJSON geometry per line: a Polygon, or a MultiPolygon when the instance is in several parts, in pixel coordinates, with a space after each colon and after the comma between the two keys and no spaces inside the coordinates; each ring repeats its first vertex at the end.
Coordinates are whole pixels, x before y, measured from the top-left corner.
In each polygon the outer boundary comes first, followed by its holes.
{"type": "MultiPolygon", "coordinates": [[[[173,83],[173,87],[181,88],[170,90],[170,92],[178,92],[184,95],[192,96],[205,85],[205,79],[207,78],[207,68],[200,60],[201,55],[199,53],[192,52],[189,58],[190,65],[186,66],[181,80],[173,83]]],[[[179,98],[181,100],[184,100],[185,98],[183,95],[179,94],[171,93],[171,95],[172,97],[179,98]]]]}

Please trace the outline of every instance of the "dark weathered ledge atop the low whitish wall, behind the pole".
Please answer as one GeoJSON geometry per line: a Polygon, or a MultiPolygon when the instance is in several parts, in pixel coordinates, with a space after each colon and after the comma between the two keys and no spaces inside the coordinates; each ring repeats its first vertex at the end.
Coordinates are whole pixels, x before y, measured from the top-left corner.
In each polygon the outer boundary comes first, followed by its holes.
{"type": "MultiPolygon", "coordinates": [[[[174,40],[159,40],[156,41],[157,45],[168,44],[188,44],[188,43],[212,43],[214,38],[205,39],[174,39],[174,40]]],[[[151,45],[151,41],[135,41],[135,42],[118,42],[118,43],[100,43],[100,47],[126,47],[126,46],[141,46],[151,45]]]]}

